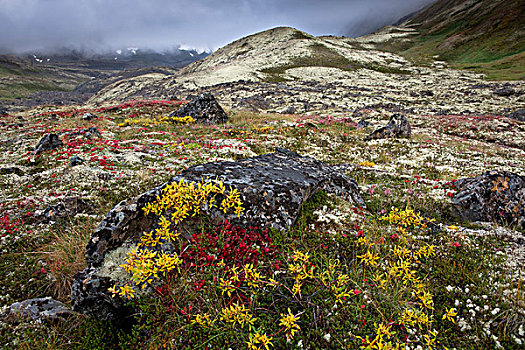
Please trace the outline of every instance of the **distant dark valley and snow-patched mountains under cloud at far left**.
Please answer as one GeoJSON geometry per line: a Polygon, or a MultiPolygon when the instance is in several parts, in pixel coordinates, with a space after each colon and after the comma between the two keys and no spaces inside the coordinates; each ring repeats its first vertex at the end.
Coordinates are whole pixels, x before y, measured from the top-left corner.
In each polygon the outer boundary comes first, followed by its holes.
{"type": "Polygon", "coordinates": [[[144,74],[173,74],[208,55],[180,48],[156,52],[134,47],[103,53],[58,49],[0,54],[0,103],[80,103],[108,84],[144,74]]]}

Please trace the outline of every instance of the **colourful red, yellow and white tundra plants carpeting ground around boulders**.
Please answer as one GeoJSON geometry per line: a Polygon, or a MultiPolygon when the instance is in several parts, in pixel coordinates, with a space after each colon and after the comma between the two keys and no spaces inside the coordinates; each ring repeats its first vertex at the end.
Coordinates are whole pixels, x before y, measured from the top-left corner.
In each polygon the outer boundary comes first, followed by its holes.
{"type": "Polygon", "coordinates": [[[228,110],[226,124],[202,125],[168,117],[181,104],[39,107],[0,117],[2,348],[522,348],[525,232],[463,222],[451,199],[461,178],[525,175],[525,123],[411,113],[410,138],[364,141],[392,113],[228,110]],[[369,126],[357,128],[360,119],[369,126]],[[48,134],[62,145],[37,154],[48,134]],[[201,208],[242,217],[242,194],[214,182],[187,196],[178,184],[147,207],[163,224],[142,233],[113,271],[128,276],[108,288],[133,310],[128,319],[10,314],[10,305],[31,298],[70,305],[86,245],[121,201],[190,166],[277,148],[355,179],[366,207],[320,191],[284,230],[211,224],[201,208]],[[162,219],[162,203],[178,216],[162,219]],[[185,220],[192,232],[176,230],[185,220]],[[157,252],[159,244],[173,252],[157,252]]]}

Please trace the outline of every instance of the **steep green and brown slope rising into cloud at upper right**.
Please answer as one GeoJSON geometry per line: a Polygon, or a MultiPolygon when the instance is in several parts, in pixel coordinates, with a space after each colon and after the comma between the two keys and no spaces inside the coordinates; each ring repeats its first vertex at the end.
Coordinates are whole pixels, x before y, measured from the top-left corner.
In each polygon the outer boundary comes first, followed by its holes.
{"type": "MultiPolygon", "coordinates": [[[[416,60],[439,56],[457,68],[494,79],[525,76],[525,2],[521,0],[439,0],[400,28],[410,40],[389,40],[378,48],[416,60]]],[[[391,29],[387,29],[391,30],[391,29]]]]}

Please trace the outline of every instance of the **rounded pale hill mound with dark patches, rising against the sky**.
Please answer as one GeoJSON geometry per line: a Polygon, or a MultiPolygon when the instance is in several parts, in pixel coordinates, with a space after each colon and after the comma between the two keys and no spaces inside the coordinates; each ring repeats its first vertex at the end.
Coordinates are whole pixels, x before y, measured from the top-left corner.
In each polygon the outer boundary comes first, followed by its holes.
{"type": "MultiPolygon", "coordinates": [[[[234,41],[174,76],[154,78],[146,89],[151,90],[150,94],[165,96],[173,89],[181,91],[238,81],[318,80],[327,71],[330,72],[327,77],[337,79],[344,79],[361,68],[406,73],[405,65],[406,61],[396,55],[357,50],[346,38],[314,37],[294,28],[279,27],[234,41]]],[[[91,101],[115,101],[117,96],[119,99],[139,98],[145,86],[137,79],[108,86],[91,101]]]]}

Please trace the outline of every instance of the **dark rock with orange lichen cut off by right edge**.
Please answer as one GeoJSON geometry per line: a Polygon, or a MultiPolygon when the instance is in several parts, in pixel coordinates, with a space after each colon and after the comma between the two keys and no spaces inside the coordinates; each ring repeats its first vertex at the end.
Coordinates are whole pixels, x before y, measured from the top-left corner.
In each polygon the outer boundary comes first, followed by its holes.
{"type": "Polygon", "coordinates": [[[454,183],[455,214],[466,221],[497,221],[525,229],[525,177],[487,171],[454,183]]]}

